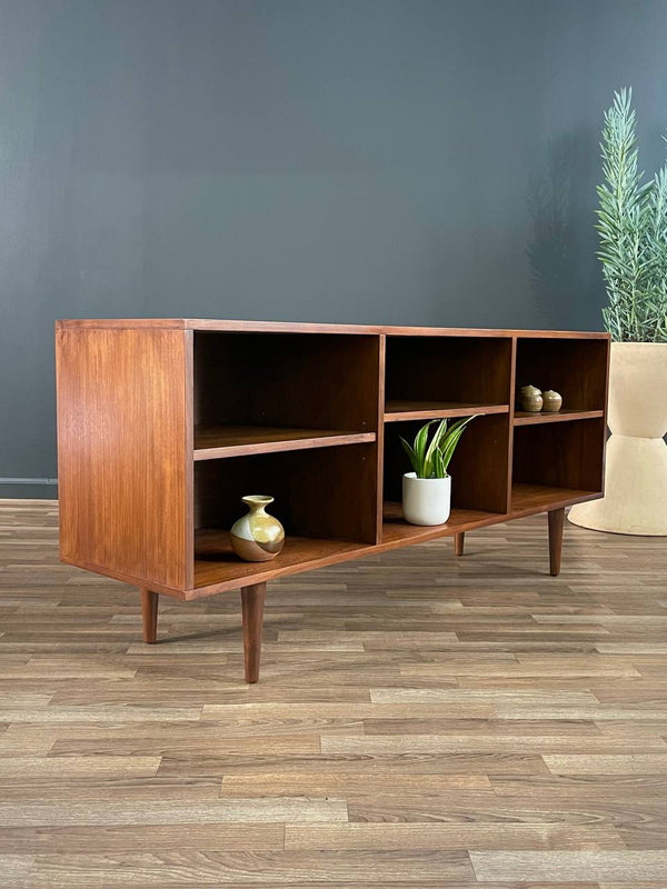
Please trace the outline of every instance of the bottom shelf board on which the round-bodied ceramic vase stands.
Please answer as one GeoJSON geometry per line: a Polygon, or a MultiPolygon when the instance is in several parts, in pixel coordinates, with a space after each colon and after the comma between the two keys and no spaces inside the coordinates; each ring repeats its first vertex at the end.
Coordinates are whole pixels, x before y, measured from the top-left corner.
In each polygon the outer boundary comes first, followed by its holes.
{"type": "MultiPolygon", "coordinates": [[[[327,540],[288,535],[285,548],[268,562],[241,561],[231,549],[229,532],[205,528],[195,537],[195,588],[236,589],[261,583],[297,570],[321,568],[332,562],[354,559],[372,549],[348,540],[327,540]]],[[[195,597],[196,598],[196,597],[195,597]]]]}

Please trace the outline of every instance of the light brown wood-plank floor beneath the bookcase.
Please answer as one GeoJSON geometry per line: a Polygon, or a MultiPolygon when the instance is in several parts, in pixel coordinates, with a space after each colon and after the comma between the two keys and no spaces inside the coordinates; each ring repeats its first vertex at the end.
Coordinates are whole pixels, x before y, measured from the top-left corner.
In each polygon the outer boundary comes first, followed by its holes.
{"type": "Polygon", "coordinates": [[[667,887],[667,541],[546,518],[162,599],[0,502],[0,886],[667,887]]]}

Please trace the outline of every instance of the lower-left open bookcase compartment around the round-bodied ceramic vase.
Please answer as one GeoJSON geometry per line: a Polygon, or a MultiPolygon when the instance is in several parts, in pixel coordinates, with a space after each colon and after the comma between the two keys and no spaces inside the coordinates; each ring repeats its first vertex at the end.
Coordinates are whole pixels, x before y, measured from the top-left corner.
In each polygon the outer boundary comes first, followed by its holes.
{"type": "Polygon", "coordinates": [[[280,572],[378,540],[377,444],[282,451],[195,465],[195,586],[280,572]],[[282,551],[269,562],[243,562],[231,550],[229,529],[243,513],[241,498],[270,495],[270,512],[286,531],[282,551]]]}

